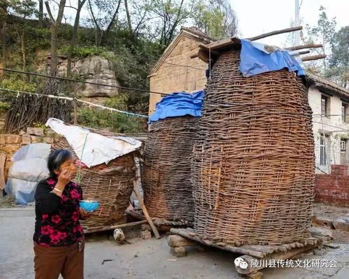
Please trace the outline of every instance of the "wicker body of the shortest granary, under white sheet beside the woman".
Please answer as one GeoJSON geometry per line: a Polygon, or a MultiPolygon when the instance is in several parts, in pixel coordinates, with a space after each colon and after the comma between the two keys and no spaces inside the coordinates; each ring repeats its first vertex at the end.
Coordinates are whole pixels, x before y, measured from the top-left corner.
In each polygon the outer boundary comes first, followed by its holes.
{"type": "MultiPolygon", "coordinates": [[[[109,132],[94,132],[105,138],[113,137],[109,132]]],[[[55,142],[52,149],[68,149],[79,159],[65,137],[55,142]]],[[[101,227],[126,222],[125,209],[130,202],[136,175],[135,156],[138,156],[138,149],[114,158],[107,164],[102,163],[94,167],[81,164],[82,167],[78,168],[76,180],[82,187],[83,198],[100,203],[98,210],[92,213],[88,220],[82,221],[84,229],[98,230],[101,227]]]]}

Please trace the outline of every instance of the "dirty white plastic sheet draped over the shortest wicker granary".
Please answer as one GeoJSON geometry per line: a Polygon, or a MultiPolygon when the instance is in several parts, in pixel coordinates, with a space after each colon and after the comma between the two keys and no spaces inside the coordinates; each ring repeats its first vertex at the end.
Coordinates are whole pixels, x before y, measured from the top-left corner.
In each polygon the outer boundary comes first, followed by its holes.
{"type": "Polygon", "coordinates": [[[105,137],[78,126],[66,125],[59,119],[48,119],[46,126],[64,136],[77,157],[87,167],[107,164],[110,160],[131,153],[142,146],[142,142],[131,137],[105,137]]]}

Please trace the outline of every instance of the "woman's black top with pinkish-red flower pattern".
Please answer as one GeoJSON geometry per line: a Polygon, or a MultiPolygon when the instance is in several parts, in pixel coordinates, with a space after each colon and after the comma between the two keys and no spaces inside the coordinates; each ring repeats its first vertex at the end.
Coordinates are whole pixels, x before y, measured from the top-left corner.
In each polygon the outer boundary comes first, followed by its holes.
{"type": "Polygon", "coordinates": [[[34,241],[40,246],[68,246],[82,240],[79,200],[82,190],[70,181],[62,196],[51,193],[57,179],[45,179],[38,183],[35,193],[36,224],[34,241]]]}

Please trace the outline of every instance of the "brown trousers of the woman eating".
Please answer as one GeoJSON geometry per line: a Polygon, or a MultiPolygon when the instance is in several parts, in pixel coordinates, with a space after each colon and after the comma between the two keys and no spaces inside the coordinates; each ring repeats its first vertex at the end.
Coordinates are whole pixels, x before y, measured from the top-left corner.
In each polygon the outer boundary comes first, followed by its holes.
{"type": "Polygon", "coordinates": [[[84,278],[84,245],[79,251],[78,243],[69,246],[44,247],[34,243],[35,279],[84,278]]]}

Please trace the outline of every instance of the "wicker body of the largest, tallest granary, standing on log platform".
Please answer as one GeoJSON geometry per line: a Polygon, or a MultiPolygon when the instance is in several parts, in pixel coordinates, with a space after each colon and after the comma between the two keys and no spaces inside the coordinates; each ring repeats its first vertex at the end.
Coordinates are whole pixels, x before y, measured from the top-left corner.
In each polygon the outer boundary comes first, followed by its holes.
{"type": "Polygon", "coordinates": [[[314,186],[306,86],[287,69],[244,77],[239,43],[225,47],[214,50],[195,142],[195,231],[237,246],[299,241],[314,186]]]}

